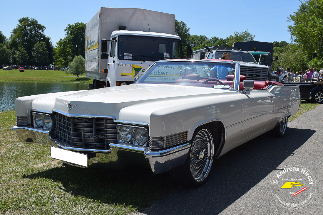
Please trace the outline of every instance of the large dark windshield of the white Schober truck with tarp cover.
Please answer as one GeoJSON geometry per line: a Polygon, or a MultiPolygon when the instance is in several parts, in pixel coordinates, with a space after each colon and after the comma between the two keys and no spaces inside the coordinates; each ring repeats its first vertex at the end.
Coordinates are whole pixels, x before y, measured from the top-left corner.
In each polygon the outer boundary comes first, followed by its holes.
{"type": "Polygon", "coordinates": [[[180,59],[183,58],[182,44],[172,38],[120,35],[118,58],[130,61],[180,59]]]}

